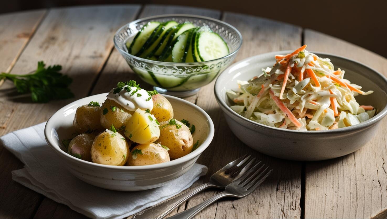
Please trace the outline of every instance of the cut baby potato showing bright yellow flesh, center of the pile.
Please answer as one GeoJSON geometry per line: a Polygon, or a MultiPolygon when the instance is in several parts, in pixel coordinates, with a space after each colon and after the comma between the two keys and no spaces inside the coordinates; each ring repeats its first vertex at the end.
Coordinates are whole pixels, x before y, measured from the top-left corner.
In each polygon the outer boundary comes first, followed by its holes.
{"type": "Polygon", "coordinates": [[[133,142],[151,144],[160,136],[159,124],[154,115],[137,109],[126,124],[125,135],[133,142]]]}

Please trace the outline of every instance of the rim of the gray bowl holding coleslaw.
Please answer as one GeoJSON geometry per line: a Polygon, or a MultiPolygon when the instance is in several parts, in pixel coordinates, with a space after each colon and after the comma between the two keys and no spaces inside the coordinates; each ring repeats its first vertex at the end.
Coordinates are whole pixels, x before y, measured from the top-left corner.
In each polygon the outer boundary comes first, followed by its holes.
{"type": "MultiPolygon", "coordinates": [[[[288,54],[288,53],[291,53],[291,52],[293,52],[293,50],[284,50],[284,51],[274,51],[274,52],[269,52],[269,53],[262,53],[262,54],[259,54],[259,55],[250,56],[248,58],[240,60],[239,62],[236,62],[236,63],[230,65],[228,68],[226,68],[221,74],[219,74],[219,76],[217,77],[217,79],[215,81],[215,86],[214,86],[215,98],[216,98],[216,101],[218,102],[219,106],[221,106],[221,109],[225,113],[228,113],[230,115],[230,117],[233,118],[234,120],[238,120],[237,121],[238,123],[240,123],[240,122],[245,123],[245,125],[244,125],[245,127],[249,127],[249,125],[250,125],[250,127],[252,126],[252,127],[257,127],[257,128],[264,128],[266,130],[277,131],[277,132],[282,133],[282,134],[285,134],[285,133],[294,133],[294,134],[308,133],[309,135],[313,135],[313,134],[323,135],[323,134],[333,134],[333,133],[344,133],[344,132],[361,130],[361,129],[365,128],[365,127],[371,126],[371,125],[377,123],[378,121],[382,120],[382,118],[384,118],[384,116],[387,114],[387,104],[386,104],[386,106],[383,109],[381,109],[380,112],[377,115],[373,116],[372,118],[370,118],[370,119],[368,119],[366,121],[363,121],[363,122],[361,122],[359,124],[356,124],[356,125],[352,125],[352,126],[349,126],[349,127],[343,127],[343,128],[337,128],[337,129],[331,129],[331,130],[318,130],[318,131],[308,131],[307,130],[307,131],[301,131],[301,130],[290,130],[290,129],[283,129],[283,128],[271,127],[271,126],[268,126],[268,125],[263,125],[263,124],[255,122],[255,121],[249,120],[249,119],[239,115],[235,111],[231,110],[231,108],[223,100],[223,98],[221,96],[223,94],[219,94],[220,89],[223,89],[223,87],[224,87],[224,86],[221,87],[221,85],[219,84],[220,83],[219,78],[222,76],[222,74],[226,74],[226,72],[229,72],[232,68],[234,68],[236,65],[238,65],[240,63],[249,62],[251,60],[254,60],[254,59],[258,58],[259,56],[272,55],[274,57],[274,55],[283,55],[283,54],[285,55],[285,54],[288,54]],[[218,91],[217,87],[221,87],[221,88],[219,88],[219,91],[218,91]]],[[[380,72],[376,71],[375,69],[369,67],[368,65],[365,65],[365,64],[363,64],[361,62],[358,62],[358,61],[350,59],[350,58],[345,58],[344,56],[340,56],[340,55],[334,55],[334,54],[331,54],[331,53],[324,53],[324,52],[318,52],[318,51],[310,51],[310,52],[315,53],[315,54],[334,56],[336,58],[343,59],[343,60],[345,60],[347,62],[351,62],[353,64],[360,65],[362,67],[368,68],[369,70],[371,70],[371,72],[373,72],[373,74],[375,74],[376,76],[380,77],[380,79],[382,79],[382,81],[387,86],[387,79],[386,79],[386,77],[384,75],[382,75],[380,72]]],[[[249,64],[249,65],[253,65],[253,64],[254,63],[249,64]]],[[[246,67],[246,66],[243,66],[243,67],[246,67]]],[[[383,91],[383,89],[381,89],[381,90],[383,91]]],[[[386,92],[385,92],[385,94],[387,95],[386,92]]]]}

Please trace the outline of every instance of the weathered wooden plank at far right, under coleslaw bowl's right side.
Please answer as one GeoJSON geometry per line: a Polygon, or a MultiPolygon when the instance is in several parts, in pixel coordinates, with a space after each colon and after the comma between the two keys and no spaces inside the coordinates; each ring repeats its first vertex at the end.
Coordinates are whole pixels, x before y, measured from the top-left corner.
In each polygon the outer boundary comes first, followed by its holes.
{"type": "MultiPolygon", "coordinates": [[[[305,30],[310,51],[348,57],[387,75],[387,60],[359,46],[305,30]]],[[[333,63],[334,64],[334,63],[333,63]]],[[[387,213],[387,120],[360,150],[329,161],[306,164],[305,218],[385,217],[387,213]]]]}

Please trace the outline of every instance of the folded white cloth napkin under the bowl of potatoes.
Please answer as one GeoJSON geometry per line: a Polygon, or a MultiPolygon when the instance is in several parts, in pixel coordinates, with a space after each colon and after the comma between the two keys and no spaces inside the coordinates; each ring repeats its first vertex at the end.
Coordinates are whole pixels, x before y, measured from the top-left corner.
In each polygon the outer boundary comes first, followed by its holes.
{"type": "Polygon", "coordinates": [[[12,179],[92,218],[123,218],[156,205],[190,187],[207,167],[194,164],[168,185],[140,192],[117,192],[89,185],[73,176],[47,145],[46,123],[0,137],[0,144],[24,163],[12,179]]]}

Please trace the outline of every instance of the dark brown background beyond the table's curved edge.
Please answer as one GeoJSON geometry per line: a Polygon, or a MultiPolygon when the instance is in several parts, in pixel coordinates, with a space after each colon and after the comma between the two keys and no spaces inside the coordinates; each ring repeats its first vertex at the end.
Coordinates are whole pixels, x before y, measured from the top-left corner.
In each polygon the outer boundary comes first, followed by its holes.
{"type": "Polygon", "coordinates": [[[2,0],[0,13],[125,3],[185,5],[266,17],[320,31],[387,57],[387,0],[2,0]]]}

